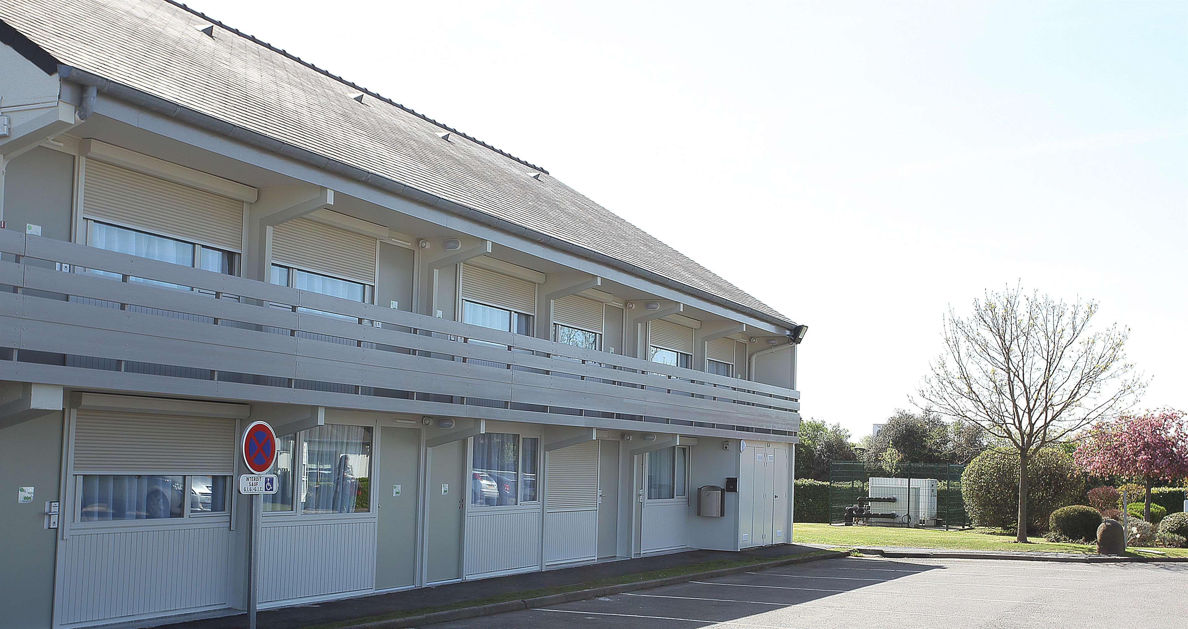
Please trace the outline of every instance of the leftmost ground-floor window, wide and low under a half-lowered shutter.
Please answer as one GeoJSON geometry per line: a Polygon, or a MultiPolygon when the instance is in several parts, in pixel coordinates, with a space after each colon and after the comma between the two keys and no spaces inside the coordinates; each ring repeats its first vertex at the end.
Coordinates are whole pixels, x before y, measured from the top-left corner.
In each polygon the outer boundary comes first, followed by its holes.
{"type": "Polygon", "coordinates": [[[169,520],[228,509],[229,476],[126,474],[81,479],[80,522],[169,520]]]}

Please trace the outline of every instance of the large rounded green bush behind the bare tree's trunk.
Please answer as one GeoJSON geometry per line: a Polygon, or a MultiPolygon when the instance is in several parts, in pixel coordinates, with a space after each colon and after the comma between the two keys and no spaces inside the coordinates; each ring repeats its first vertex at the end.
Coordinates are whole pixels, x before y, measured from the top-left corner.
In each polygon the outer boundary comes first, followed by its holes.
{"type": "MultiPolygon", "coordinates": [[[[1038,533],[1047,530],[1053,512],[1076,502],[1085,491],[1085,477],[1073,457],[1045,447],[1028,462],[1028,530],[1038,533]]],[[[993,449],[974,457],[961,475],[961,495],[974,523],[1013,527],[1018,519],[1018,455],[1010,449],[993,449]]]]}

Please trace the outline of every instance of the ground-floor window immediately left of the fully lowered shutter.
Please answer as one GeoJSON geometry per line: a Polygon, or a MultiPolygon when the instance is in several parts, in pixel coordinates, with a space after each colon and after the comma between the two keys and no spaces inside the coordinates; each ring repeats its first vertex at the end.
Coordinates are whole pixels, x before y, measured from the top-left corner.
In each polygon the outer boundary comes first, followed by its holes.
{"type": "Polygon", "coordinates": [[[505,432],[475,436],[470,504],[505,507],[536,502],[539,444],[539,439],[520,439],[518,434],[505,432]]]}

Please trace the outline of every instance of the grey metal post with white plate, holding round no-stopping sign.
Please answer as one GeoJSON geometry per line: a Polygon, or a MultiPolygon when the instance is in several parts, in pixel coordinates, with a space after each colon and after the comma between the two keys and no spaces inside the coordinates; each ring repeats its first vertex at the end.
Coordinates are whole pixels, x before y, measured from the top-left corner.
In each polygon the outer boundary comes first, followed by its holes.
{"type": "Polygon", "coordinates": [[[266,474],[277,460],[277,434],[264,421],[253,421],[244,431],[240,443],[244,464],[255,474],[239,477],[239,493],[252,496],[251,526],[247,539],[247,628],[255,629],[255,610],[259,606],[260,573],[260,521],[264,519],[264,494],[277,493],[277,476],[266,474]]]}

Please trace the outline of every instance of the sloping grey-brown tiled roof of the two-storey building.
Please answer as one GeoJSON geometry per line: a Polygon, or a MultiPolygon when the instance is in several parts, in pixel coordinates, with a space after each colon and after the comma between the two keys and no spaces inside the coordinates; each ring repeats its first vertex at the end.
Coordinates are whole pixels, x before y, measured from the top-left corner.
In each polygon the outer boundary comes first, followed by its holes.
{"type": "Polygon", "coordinates": [[[61,64],[791,323],[546,171],[182,5],[0,0],[0,20],[61,64]]]}

